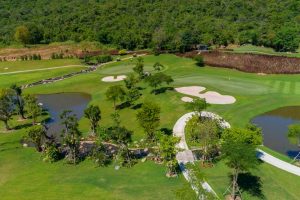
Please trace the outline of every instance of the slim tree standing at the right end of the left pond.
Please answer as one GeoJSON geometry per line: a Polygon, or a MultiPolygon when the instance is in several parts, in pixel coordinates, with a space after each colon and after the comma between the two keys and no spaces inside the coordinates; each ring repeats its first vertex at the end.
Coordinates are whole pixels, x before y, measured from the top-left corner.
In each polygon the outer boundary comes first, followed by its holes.
{"type": "Polygon", "coordinates": [[[96,128],[99,121],[101,120],[100,108],[98,106],[90,105],[87,109],[84,110],[84,116],[90,120],[92,135],[95,136],[96,128]]]}

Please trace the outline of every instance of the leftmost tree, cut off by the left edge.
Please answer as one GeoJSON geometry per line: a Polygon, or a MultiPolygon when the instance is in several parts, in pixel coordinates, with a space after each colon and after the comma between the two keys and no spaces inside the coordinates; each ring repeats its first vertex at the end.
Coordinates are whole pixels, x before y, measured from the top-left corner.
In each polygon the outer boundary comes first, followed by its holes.
{"type": "Polygon", "coordinates": [[[8,121],[13,116],[14,109],[13,91],[11,89],[0,90],[0,120],[4,122],[6,130],[10,130],[8,121]]]}

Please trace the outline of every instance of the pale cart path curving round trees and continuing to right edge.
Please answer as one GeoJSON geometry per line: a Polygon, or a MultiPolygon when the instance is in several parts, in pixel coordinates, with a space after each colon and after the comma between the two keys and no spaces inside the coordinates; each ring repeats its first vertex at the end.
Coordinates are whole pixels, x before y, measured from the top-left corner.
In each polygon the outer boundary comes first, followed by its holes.
{"type": "MultiPolygon", "coordinates": [[[[189,149],[189,147],[186,143],[185,126],[186,126],[187,121],[194,114],[197,114],[197,113],[196,112],[190,112],[190,113],[187,113],[187,114],[183,115],[182,117],[180,117],[177,120],[177,122],[175,123],[175,125],[173,127],[173,135],[175,137],[180,138],[180,142],[176,145],[176,147],[183,150],[183,151],[177,153],[176,159],[179,163],[180,169],[181,169],[185,179],[188,182],[190,182],[189,180],[191,179],[190,178],[190,173],[189,173],[188,169],[185,168],[184,165],[186,163],[189,163],[189,162],[194,163],[195,158],[193,156],[192,151],[189,149]]],[[[218,116],[214,113],[210,113],[210,112],[202,112],[201,116],[207,116],[207,117],[211,117],[211,118],[214,118],[214,119],[221,119],[220,116],[218,116]]],[[[221,121],[221,126],[230,128],[230,124],[228,122],[224,121],[224,120],[221,121]]],[[[275,158],[274,156],[271,156],[270,154],[268,154],[268,153],[266,153],[266,152],[264,152],[260,149],[257,149],[257,151],[258,151],[257,157],[259,159],[261,159],[262,161],[264,161],[264,162],[266,162],[270,165],[273,165],[274,167],[280,168],[284,171],[287,171],[287,172],[290,172],[292,174],[300,176],[300,168],[299,167],[297,167],[295,165],[292,165],[290,163],[284,162],[284,161],[282,161],[278,158],[275,158]]],[[[203,181],[201,184],[202,184],[202,187],[205,190],[207,190],[209,192],[212,192],[217,196],[215,191],[212,189],[212,187],[207,182],[203,181]]],[[[193,190],[198,192],[197,188],[194,185],[192,185],[192,188],[193,188],[193,190]]]]}

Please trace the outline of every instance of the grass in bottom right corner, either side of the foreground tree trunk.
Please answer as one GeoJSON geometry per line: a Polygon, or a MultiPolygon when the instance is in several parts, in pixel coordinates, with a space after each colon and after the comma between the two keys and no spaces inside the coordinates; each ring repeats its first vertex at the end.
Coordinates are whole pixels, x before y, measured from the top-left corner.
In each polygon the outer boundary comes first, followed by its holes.
{"type": "MultiPolygon", "coordinates": [[[[198,165],[200,165],[198,163],[198,165]]],[[[213,187],[219,197],[223,197],[224,192],[230,186],[230,169],[225,163],[218,162],[212,168],[201,168],[206,181],[213,187]]],[[[251,179],[244,182],[254,191],[261,190],[261,196],[251,194],[251,192],[242,189],[243,199],[299,199],[300,178],[288,172],[282,171],[269,164],[261,163],[257,169],[251,171],[251,174],[259,177],[260,187],[258,190],[251,187],[251,179]]]]}

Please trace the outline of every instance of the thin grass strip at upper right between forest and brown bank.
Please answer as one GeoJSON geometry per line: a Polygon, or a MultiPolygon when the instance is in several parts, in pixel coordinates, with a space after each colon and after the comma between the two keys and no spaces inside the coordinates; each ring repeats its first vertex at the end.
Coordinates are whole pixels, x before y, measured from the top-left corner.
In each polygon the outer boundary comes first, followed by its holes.
{"type": "Polygon", "coordinates": [[[272,48],[259,47],[254,45],[243,45],[233,49],[237,53],[256,53],[256,54],[266,54],[266,55],[275,55],[275,56],[288,56],[288,57],[300,57],[300,49],[297,53],[286,53],[286,52],[276,52],[272,48]]]}

